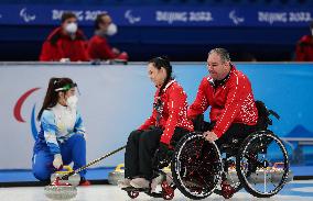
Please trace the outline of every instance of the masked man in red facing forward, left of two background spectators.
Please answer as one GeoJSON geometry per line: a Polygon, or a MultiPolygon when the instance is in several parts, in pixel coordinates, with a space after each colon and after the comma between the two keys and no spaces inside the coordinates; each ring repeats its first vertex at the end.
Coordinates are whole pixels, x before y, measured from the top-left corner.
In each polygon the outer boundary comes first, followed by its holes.
{"type": "Polygon", "coordinates": [[[62,24],[55,29],[42,46],[42,62],[86,62],[86,38],[83,31],[77,29],[77,18],[74,13],[65,12],[61,18],[62,24]]]}

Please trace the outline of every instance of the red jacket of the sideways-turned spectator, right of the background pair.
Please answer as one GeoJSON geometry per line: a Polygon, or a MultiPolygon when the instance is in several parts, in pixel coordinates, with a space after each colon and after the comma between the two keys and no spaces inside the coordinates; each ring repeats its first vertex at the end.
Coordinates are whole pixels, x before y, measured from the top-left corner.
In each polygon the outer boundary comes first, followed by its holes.
{"type": "Polygon", "coordinates": [[[91,59],[101,59],[101,60],[115,59],[115,58],[125,59],[125,60],[128,59],[128,56],[126,54],[119,54],[119,55],[115,54],[107,38],[100,35],[94,35],[89,40],[87,52],[91,59]]]}

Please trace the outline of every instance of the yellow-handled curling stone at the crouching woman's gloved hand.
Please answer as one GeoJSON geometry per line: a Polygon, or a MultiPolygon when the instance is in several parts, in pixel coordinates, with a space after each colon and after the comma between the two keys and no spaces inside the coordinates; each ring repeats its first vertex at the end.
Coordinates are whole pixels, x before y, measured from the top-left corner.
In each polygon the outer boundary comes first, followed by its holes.
{"type": "MultiPolygon", "coordinates": [[[[56,171],[54,174],[51,175],[51,182],[54,182],[55,179],[58,177],[58,178],[62,178],[62,176],[66,175],[66,174],[69,174],[72,172],[73,169],[71,166],[63,166],[63,169],[61,171],[56,171]]],[[[67,180],[61,180],[60,179],[60,183],[69,183],[74,187],[77,187],[79,185],[79,181],[80,181],[80,176],[79,174],[76,174],[76,175],[73,175],[73,176],[69,176],[67,180]]]]}

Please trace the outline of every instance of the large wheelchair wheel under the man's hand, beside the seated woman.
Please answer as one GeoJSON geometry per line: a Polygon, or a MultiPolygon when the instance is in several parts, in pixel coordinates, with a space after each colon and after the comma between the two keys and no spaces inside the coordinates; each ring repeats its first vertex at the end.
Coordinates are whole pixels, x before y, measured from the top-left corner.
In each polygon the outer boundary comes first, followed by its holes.
{"type": "Polygon", "coordinates": [[[220,180],[220,153],[203,133],[190,133],[175,147],[171,168],[177,189],[190,199],[201,200],[212,194],[220,180]]]}

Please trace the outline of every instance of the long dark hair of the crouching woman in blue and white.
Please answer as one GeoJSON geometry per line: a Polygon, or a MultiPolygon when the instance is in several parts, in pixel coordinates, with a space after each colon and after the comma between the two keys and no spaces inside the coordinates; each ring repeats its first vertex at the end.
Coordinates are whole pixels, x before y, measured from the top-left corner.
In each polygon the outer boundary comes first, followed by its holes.
{"type": "Polygon", "coordinates": [[[50,79],[47,90],[45,93],[45,98],[44,98],[42,108],[37,115],[39,121],[44,110],[55,107],[55,104],[57,103],[57,98],[58,98],[57,92],[68,91],[72,88],[72,86],[74,87],[75,83],[73,82],[71,78],[51,78],[50,79]],[[56,89],[61,89],[61,90],[55,91],[56,89]]]}

